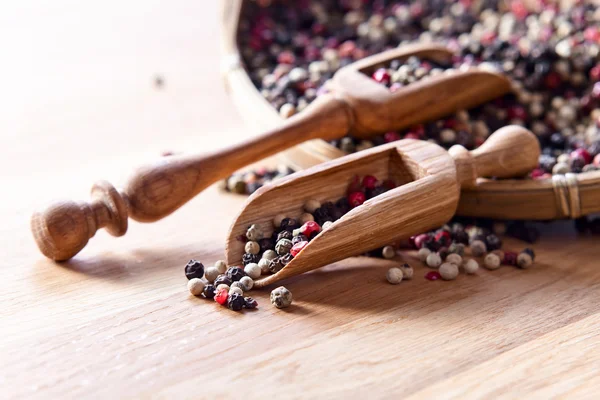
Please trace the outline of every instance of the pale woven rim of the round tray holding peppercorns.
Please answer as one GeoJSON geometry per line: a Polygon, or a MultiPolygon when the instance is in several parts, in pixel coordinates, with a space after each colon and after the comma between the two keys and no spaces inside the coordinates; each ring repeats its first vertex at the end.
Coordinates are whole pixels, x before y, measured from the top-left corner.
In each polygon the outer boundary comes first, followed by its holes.
{"type": "MultiPolygon", "coordinates": [[[[266,130],[281,123],[252,84],[242,66],[237,28],[244,0],[222,1],[223,75],[227,89],[249,126],[266,130]]],[[[303,143],[279,155],[295,170],[345,155],[323,140],[303,143]]],[[[498,219],[550,220],[578,218],[600,212],[600,172],[555,175],[547,180],[479,179],[477,187],[463,190],[457,214],[498,219]]]]}

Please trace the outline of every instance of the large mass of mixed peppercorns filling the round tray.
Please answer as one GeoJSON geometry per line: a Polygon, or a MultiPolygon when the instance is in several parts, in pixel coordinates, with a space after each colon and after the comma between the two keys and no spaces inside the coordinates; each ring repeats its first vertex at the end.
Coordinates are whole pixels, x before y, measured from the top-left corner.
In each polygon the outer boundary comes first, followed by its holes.
{"type": "MultiPolygon", "coordinates": [[[[592,1],[534,7],[528,10],[521,0],[250,1],[239,43],[251,79],[283,117],[325,92],[326,82],[345,65],[410,42],[443,43],[457,54],[454,68],[498,65],[514,81],[514,93],[387,138],[333,144],[352,152],[418,137],[475,148],[489,132],[520,124],[543,148],[532,178],[597,170],[600,9],[592,1]]],[[[393,74],[387,74],[391,82],[393,74]]],[[[387,74],[374,77],[385,83],[387,74]]]]}

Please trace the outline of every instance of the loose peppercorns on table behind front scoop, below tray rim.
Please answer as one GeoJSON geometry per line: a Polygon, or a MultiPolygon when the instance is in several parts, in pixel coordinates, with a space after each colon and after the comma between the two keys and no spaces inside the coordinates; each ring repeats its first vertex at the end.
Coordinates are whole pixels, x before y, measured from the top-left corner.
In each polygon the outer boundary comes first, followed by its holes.
{"type": "Polygon", "coordinates": [[[471,259],[463,259],[465,251],[471,256],[483,258],[483,265],[489,270],[501,265],[513,265],[521,269],[531,267],[535,260],[532,249],[526,248],[520,253],[502,251],[502,240],[495,233],[476,226],[463,226],[460,223],[445,225],[442,228],[413,236],[411,243],[418,249],[419,259],[428,267],[437,269],[425,275],[429,280],[453,280],[462,267],[465,273],[474,274],[479,263],[471,259]]]}

